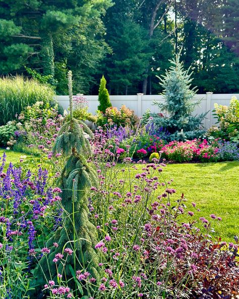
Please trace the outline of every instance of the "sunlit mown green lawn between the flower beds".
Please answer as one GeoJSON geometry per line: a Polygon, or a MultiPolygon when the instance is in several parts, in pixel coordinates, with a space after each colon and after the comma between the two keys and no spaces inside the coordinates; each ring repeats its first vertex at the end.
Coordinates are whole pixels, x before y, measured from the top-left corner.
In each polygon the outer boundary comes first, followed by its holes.
{"type": "MultiPolygon", "coordinates": [[[[2,156],[4,150],[0,150],[2,156]]],[[[22,153],[7,151],[7,163],[19,162],[22,153]]],[[[27,156],[27,155],[26,155],[27,156]]],[[[31,159],[27,156],[27,159],[31,159]]],[[[137,165],[138,171],[142,165],[137,165]]],[[[135,170],[135,173],[138,172],[135,170]]],[[[134,171],[132,172],[134,175],[134,171]]],[[[197,204],[201,211],[195,217],[216,214],[221,222],[212,221],[213,228],[223,240],[233,241],[239,235],[239,162],[168,164],[163,170],[166,181],[173,179],[171,187],[176,189],[173,198],[185,194],[188,206],[197,204]]],[[[190,208],[191,209],[191,208],[190,208]]],[[[192,211],[193,208],[191,209],[192,211]]],[[[196,210],[195,210],[196,211],[196,210]]]]}

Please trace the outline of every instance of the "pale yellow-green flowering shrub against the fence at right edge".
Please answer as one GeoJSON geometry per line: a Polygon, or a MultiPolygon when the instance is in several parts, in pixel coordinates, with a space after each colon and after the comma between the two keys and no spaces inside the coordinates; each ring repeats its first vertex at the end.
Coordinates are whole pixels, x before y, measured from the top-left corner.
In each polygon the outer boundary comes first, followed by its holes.
{"type": "Polygon", "coordinates": [[[208,133],[215,138],[239,142],[239,101],[232,96],[229,106],[214,105],[219,127],[212,126],[208,133]]]}

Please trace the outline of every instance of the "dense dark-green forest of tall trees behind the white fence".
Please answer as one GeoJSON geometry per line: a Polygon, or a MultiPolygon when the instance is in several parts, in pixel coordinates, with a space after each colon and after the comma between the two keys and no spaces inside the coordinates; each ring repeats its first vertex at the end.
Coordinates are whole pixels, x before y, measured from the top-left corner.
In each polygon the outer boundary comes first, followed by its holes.
{"type": "Polygon", "coordinates": [[[199,93],[239,91],[237,0],[0,1],[0,74],[35,77],[67,94],[157,94],[168,59],[194,71],[199,93]]]}

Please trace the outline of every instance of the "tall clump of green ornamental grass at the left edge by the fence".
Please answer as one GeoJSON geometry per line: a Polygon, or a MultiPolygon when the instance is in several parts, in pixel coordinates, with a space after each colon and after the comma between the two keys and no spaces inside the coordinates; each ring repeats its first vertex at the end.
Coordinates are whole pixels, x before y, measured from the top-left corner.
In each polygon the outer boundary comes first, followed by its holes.
{"type": "Polygon", "coordinates": [[[48,85],[22,76],[0,79],[0,125],[15,119],[24,107],[37,101],[52,101],[54,91],[48,85]]]}

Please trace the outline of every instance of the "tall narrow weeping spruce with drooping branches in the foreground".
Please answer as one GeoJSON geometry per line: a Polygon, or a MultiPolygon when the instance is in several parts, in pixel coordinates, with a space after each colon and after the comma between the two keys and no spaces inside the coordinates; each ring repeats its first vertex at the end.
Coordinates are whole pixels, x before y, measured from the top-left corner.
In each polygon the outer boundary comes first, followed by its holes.
{"type": "Polygon", "coordinates": [[[64,254],[66,247],[74,253],[67,256],[66,265],[58,262],[58,273],[63,273],[69,280],[69,286],[74,288],[73,271],[88,271],[92,277],[98,279],[98,255],[94,248],[97,242],[97,231],[88,219],[87,191],[92,185],[97,185],[97,174],[86,161],[91,156],[91,147],[84,133],[92,135],[88,127],[73,118],[72,107],[72,73],[68,74],[70,94],[70,121],[64,124],[58,133],[54,145],[54,153],[62,153],[68,157],[66,166],[58,181],[62,189],[62,205],[64,207],[64,224],[58,228],[46,242],[46,247],[51,248],[48,255],[44,255],[36,268],[35,276],[44,276],[57,281],[57,271],[53,259],[55,255],[64,254]],[[58,246],[53,244],[57,243],[58,246]],[[50,269],[50,273],[49,273],[50,269]]]}

